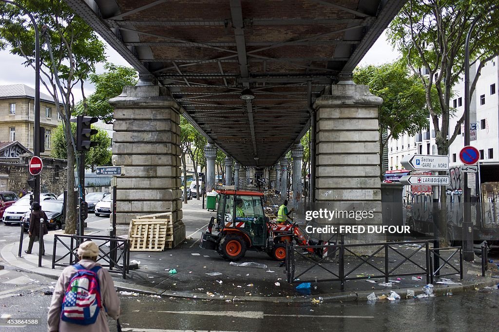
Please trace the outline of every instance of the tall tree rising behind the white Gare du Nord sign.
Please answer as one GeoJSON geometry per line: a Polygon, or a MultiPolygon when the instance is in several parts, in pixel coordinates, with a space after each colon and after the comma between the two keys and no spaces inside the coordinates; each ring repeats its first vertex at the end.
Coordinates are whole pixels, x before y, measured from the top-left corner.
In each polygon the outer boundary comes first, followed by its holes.
{"type": "MultiPolygon", "coordinates": [[[[454,112],[449,102],[452,88],[464,72],[465,40],[474,18],[483,17],[470,40],[470,59],[476,65],[476,71],[471,75],[475,78],[470,84],[470,96],[475,91],[485,63],[499,55],[496,3],[495,0],[409,0],[390,24],[389,39],[402,52],[425,87],[426,106],[435,128],[435,142],[440,155],[449,154],[449,146],[464,121],[463,114],[456,126],[449,128],[454,112]],[[434,88],[438,93],[432,93],[434,88]],[[436,109],[435,105],[440,109],[436,109]]],[[[445,190],[440,192],[440,200],[441,206],[445,207],[445,190]]],[[[440,210],[439,217],[440,236],[445,242],[446,209],[440,210]]]]}

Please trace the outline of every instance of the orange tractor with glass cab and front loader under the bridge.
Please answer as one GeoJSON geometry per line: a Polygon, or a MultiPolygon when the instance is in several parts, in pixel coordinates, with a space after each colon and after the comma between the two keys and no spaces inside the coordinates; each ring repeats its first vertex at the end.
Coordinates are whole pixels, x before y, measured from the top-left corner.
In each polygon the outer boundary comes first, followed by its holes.
{"type": "MultiPolygon", "coordinates": [[[[286,242],[322,245],[306,239],[296,224],[270,222],[263,213],[263,194],[253,191],[218,191],[217,217],[212,217],[201,238],[201,248],[216,250],[228,261],[239,261],[247,250],[266,252],[275,260],[286,258],[286,242]],[[217,234],[213,234],[215,227],[217,234]]],[[[322,257],[321,248],[304,248],[322,257]]]]}

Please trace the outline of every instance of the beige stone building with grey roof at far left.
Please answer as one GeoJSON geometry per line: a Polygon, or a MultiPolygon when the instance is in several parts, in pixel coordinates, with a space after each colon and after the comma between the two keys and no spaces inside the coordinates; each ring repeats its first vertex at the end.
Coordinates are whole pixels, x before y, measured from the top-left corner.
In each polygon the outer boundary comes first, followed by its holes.
{"type": "MultiPolygon", "coordinates": [[[[52,133],[60,123],[52,97],[40,93],[40,127],[45,129],[43,143],[49,157],[52,133]]],[[[0,86],[0,141],[19,142],[33,151],[34,135],[34,89],[24,84],[0,86]]]]}

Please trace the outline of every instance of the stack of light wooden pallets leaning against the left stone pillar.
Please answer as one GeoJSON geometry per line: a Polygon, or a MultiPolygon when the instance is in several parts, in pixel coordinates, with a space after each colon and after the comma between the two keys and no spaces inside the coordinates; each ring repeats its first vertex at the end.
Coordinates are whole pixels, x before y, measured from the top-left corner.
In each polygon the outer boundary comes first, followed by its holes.
{"type": "Polygon", "coordinates": [[[128,230],[130,251],[164,251],[173,248],[172,213],[158,213],[132,219],[128,230]]]}

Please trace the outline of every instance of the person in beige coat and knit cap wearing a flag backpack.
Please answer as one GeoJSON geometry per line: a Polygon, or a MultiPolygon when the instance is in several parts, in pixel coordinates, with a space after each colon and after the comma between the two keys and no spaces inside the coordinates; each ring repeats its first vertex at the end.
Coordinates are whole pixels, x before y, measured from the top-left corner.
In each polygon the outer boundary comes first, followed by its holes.
{"type": "Polygon", "coordinates": [[[109,332],[106,317],[117,320],[120,300],[109,272],[96,263],[99,247],[85,241],[78,264],[65,268],[48,310],[48,332],[109,332]]]}

